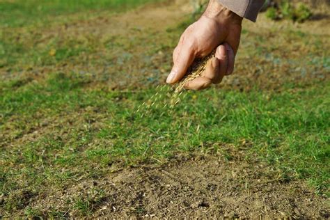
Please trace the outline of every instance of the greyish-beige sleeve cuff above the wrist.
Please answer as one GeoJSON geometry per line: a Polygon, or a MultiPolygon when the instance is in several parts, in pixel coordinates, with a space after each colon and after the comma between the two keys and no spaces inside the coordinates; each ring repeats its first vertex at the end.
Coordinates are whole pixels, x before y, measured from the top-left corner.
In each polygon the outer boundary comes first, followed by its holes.
{"type": "Polygon", "coordinates": [[[218,0],[223,6],[233,13],[256,22],[258,13],[265,0],[218,0]]]}

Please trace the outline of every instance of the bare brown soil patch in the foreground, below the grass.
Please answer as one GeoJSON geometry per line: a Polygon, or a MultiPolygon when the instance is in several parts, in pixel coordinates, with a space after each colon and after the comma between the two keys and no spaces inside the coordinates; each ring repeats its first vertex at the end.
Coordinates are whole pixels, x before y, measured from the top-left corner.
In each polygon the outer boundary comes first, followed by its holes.
{"type": "MultiPolygon", "coordinates": [[[[52,196],[33,198],[40,210],[65,210],[72,196],[103,191],[93,217],[113,218],[293,218],[330,217],[327,198],[305,184],[276,180],[272,168],[243,155],[226,161],[217,156],[180,156],[162,166],[141,166],[100,180],[77,181],[52,196]],[[275,179],[274,179],[275,178],[275,179]]],[[[93,200],[93,199],[92,199],[93,200]]],[[[67,217],[77,213],[68,213],[67,217]]]]}

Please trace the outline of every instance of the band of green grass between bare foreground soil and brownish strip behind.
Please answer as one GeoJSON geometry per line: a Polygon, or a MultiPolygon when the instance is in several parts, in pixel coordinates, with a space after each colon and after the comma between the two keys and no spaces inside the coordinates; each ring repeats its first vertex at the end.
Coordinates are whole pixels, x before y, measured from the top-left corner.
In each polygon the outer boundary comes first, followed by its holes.
{"type": "MultiPolygon", "coordinates": [[[[3,141],[46,131],[27,143],[2,146],[4,194],[21,184],[38,188],[66,184],[84,173],[97,177],[113,162],[135,166],[165,161],[178,152],[214,152],[220,150],[219,143],[239,148],[242,140],[251,143],[247,155],[258,152],[260,159],[281,171],[283,180],[303,178],[320,191],[327,189],[328,82],[309,88],[288,86],[281,93],[257,88],[250,93],[188,93],[174,109],[153,108],[142,118],[135,110],[155,88],[132,93],[85,91],[83,85],[84,79],[77,76],[53,74],[45,85],[1,86],[1,132],[10,130],[3,141]],[[47,118],[58,127],[42,127],[47,118]],[[22,176],[24,182],[16,185],[22,176]]],[[[83,209],[86,204],[77,205],[83,209]]]]}

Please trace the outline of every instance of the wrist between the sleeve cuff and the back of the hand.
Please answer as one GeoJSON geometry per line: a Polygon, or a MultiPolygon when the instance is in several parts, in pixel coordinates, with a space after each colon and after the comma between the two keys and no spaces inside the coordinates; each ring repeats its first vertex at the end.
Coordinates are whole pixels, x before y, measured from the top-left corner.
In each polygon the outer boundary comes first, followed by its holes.
{"type": "Polygon", "coordinates": [[[221,5],[218,0],[210,0],[202,16],[213,19],[219,24],[242,24],[242,17],[221,5]]]}

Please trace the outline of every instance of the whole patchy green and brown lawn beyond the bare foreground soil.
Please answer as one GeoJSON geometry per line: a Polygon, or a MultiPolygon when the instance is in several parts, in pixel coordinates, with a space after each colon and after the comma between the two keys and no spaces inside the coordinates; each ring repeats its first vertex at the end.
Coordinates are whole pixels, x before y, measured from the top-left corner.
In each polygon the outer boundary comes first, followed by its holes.
{"type": "MultiPolygon", "coordinates": [[[[36,2],[0,1],[0,26],[6,26],[0,31],[1,214],[42,216],[31,206],[37,195],[178,154],[219,153],[230,161],[235,155],[223,146],[242,150],[246,159],[258,155],[274,169],[271,180],[329,191],[327,35],[292,26],[256,32],[247,25],[232,84],[188,92],[173,109],[136,113],[157,93],[186,24],[162,34],[136,25],[111,35],[84,22],[146,1],[36,2]],[[54,35],[53,28],[65,25],[78,28],[54,35]]],[[[169,97],[166,91],[159,104],[169,97]]],[[[67,210],[47,214],[92,214],[102,195],[102,189],[74,195],[67,210]]]]}

